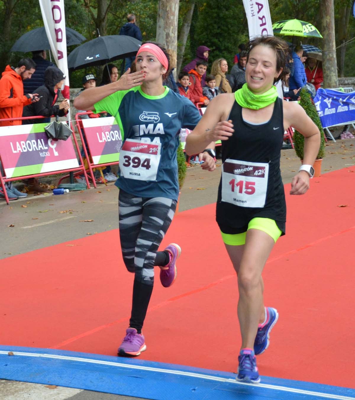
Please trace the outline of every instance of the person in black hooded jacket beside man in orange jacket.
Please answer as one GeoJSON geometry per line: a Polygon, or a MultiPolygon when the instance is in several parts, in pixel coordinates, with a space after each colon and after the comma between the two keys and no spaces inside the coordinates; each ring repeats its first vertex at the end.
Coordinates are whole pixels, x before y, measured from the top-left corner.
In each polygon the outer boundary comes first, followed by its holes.
{"type": "MultiPolygon", "coordinates": [[[[56,104],[58,98],[58,90],[64,84],[65,75],[57,67],[48,67],[44,72],[44,85],[36,89],[39,96],[39,101],[24,107],[23,116],[32,117],[42,115],[50,117],[58,115],[60,117],[66,115],[70,104],[68,99],[64,99],[59,105],[56,104]]],[[[40,124],[42,118],[23,120],[23,124],[40,124]]]]}

